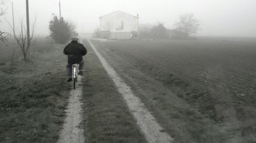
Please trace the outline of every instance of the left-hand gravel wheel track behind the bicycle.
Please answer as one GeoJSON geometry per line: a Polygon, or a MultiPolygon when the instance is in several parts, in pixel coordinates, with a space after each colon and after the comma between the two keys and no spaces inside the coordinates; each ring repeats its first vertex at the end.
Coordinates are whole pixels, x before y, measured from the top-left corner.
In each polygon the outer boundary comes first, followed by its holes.
{"type": "MultiPolygon", "coordinates": [[[[80,99],[82,97],[82,76],[78,78],[76,89],[70,91],[68,106],[66,111],[66,119],[63,129],[59,133],[58,142],[84,142],[83,129],[79,127],[82,121],[82,109],[80,99]]],[[[73,82],[71,83],[73,85],[73,82]]],[[[73,88],[73,87],[72,87],[73,88]]]]}

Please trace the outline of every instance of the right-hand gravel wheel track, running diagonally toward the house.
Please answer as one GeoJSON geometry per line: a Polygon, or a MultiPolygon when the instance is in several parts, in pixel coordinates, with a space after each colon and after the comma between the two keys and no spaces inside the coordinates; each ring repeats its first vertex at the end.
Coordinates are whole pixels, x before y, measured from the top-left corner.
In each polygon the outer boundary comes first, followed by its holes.
{"type": "Polygon", "coordinates": [[[140,102],[140,99],[136,97],[131,88],[126,85],[115,70],[106,62],[103,56],[98,52],[90,40],[88,40],[91,47],[98,56],[102,66],[108,72],[109,76],[114,81],[118,91],[122,94],[122,97],[126,101],[132,115],[137,120],[137,124],[143,132],[148,142],[173,142],[173,138],[167,133],[163,132],[163,128],[157,123],[156,119],[146,109],[145,105],[140,102]]]}

